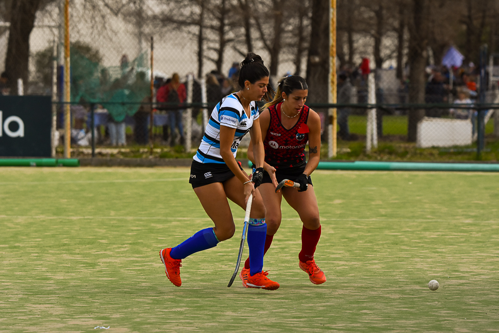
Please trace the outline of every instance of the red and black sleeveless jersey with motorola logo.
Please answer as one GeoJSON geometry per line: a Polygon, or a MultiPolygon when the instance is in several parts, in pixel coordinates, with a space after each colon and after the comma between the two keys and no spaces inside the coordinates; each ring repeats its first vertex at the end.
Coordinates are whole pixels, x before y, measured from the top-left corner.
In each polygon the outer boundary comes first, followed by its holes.
{"type": "Polygon", "coordinates": [[[263,140],[265,162],[281,171],[289,168],[304,167],[305,144],[308,142],[308,106],[304,105],[298,121],[290,128],[282,126],[280,120],[280,105],[277,103],[268,108],[270,123],[267,135],[263,140]]]}

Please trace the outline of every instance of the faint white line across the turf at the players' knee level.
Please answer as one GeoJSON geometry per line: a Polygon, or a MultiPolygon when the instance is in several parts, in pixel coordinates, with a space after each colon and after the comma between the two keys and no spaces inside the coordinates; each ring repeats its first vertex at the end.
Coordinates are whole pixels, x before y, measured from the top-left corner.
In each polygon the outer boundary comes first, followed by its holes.
{"type": "MultiPolygon", "coordinates": [[[[81,219],[123,219],[123,220],[209,220],[209,217],[167,217],[167,216],[22,216],[22,215],[0,215],[0,219],[63,219],[63,220],[81,220],[81,219]]],[[[300,221],[299,218],[285,218],[285,221],[300,221]]],[[[321,218],[321,221],[404,221],[404,222],[462,222],[462,223],[499,223],[499,221],[475,221],[475,220],[442,220],[442,219],[327,219],[321,218]]]]}

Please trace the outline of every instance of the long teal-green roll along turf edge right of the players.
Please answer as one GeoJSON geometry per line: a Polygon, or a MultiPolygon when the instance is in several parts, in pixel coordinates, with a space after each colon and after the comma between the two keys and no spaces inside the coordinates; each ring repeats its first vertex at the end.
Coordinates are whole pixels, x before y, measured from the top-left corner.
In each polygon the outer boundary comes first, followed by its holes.
{"type": "Polygon", "coordinates": [[[498,163],[319,162],[322,170],[495,171],[498,163]]]}

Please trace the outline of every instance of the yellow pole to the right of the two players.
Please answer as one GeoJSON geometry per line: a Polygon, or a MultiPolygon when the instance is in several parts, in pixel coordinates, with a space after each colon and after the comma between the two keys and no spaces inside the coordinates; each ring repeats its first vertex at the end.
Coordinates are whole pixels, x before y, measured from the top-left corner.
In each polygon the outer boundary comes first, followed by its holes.
{"type": "MultiPolygon", "coordinates": [[[[329,103],[336,103],[336,0],[331,0],[329,9],[329,103]]],[[[336,157],[336,108],[329,109],[328,150],[329,158],[336,157]]]]}

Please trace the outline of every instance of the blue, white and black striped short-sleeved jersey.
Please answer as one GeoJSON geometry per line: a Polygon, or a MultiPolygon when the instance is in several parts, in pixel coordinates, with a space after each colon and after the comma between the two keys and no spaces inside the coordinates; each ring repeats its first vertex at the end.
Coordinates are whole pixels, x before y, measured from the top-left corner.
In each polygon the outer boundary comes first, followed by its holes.
{"type": "Polygon", "coordinates": [[[236,129],[234,134],[234,142],[231,146],[231,151],[236,157],[239,143],[243,137],[250,131],[253,125],[253,120],[259,117],[256,102],[250,102],[251,115],[250,118],[241,104],[239,97],[236,94],[230,94],[224,97],[220,103],[215,106],[213,112],[206,125],[205,135],[201,140],[201,145],[198,148],[194,160],[201,163],[225,163],[220,156],[220,126],[227,126],[236,129]]]}

